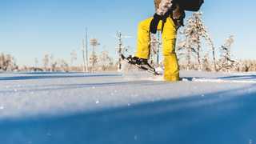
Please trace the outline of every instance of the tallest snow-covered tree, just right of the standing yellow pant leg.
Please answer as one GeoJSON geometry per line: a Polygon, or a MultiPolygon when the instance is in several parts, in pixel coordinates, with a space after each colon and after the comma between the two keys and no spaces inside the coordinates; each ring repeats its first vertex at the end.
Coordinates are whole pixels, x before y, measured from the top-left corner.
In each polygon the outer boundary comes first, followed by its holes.
{"type": "Polygon", "coordinates": [[[181,34],[185,36],[185,40],[182,40],[181,44],[178,45],[178,53],[186,58],[187,68],[190,69],[194,55],[198,62],[198,70],[202,70],[202,61],[207,54],[203,53],[205,51],[202,50],[202,38],[204,38],[204,40],[210,45],[214,69],[216,70],[214,43],[202,21],[202,12],[192,14],[192,17],[187,20],[186,27],[181,31],[181,34]]]}

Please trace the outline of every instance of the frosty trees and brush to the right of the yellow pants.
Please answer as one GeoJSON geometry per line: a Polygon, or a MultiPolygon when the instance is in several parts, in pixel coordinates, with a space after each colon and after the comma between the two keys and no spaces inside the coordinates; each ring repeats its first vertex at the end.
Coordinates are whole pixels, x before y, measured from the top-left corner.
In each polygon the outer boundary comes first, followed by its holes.
{"type": "Polygon", "coordinates": [[[214,46],[201,12],[192,14],[179,36],[177,54],[182,70],[255,71],[255,61],[236,60],[231,54],[234,35],[226,38],[222,46],[214,46]]]}

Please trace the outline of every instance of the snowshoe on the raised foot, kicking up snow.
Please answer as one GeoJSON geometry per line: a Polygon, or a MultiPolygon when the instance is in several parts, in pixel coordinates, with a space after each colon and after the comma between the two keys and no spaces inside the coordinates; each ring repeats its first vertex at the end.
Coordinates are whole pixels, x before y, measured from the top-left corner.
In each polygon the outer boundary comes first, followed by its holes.
{"type": "Polygon", "coordinates": [[[147,62],[147,59],[132,57],[131,55],[129,57],[126,57],[123,54],[121,54],[121,57],[122,57],[122,60],[126,61],[130,65],[137,66],[141,70],[146,70],[150,74],[160,75],[154,69],[153,66],[150,66],[150,64],[147,62]]]}

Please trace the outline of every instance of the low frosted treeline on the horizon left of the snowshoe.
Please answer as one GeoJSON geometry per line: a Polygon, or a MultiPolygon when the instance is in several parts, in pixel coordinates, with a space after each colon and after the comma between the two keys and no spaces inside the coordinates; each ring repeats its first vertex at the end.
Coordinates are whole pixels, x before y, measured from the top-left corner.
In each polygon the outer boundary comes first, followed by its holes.
{"type": "MultiPolygon", "coordinates": [[[[70,53],[70,61],[62,58],[54,58],[53,54],[44,54],[42,61],[39,64],[38,58],[34,58],[34,66],[17,66],[10,54],[1,54],[0,70],[2,71],[30,71],[30,72],[82,72],[84,66],[74,65],[78,60],[75,51],[70,53]]],[[[107,51],[102,51],[100,54],[90,54],[88,72],[97,71],[114,71],[117,70],[118,63],[114,62],[107,51]]]]}

